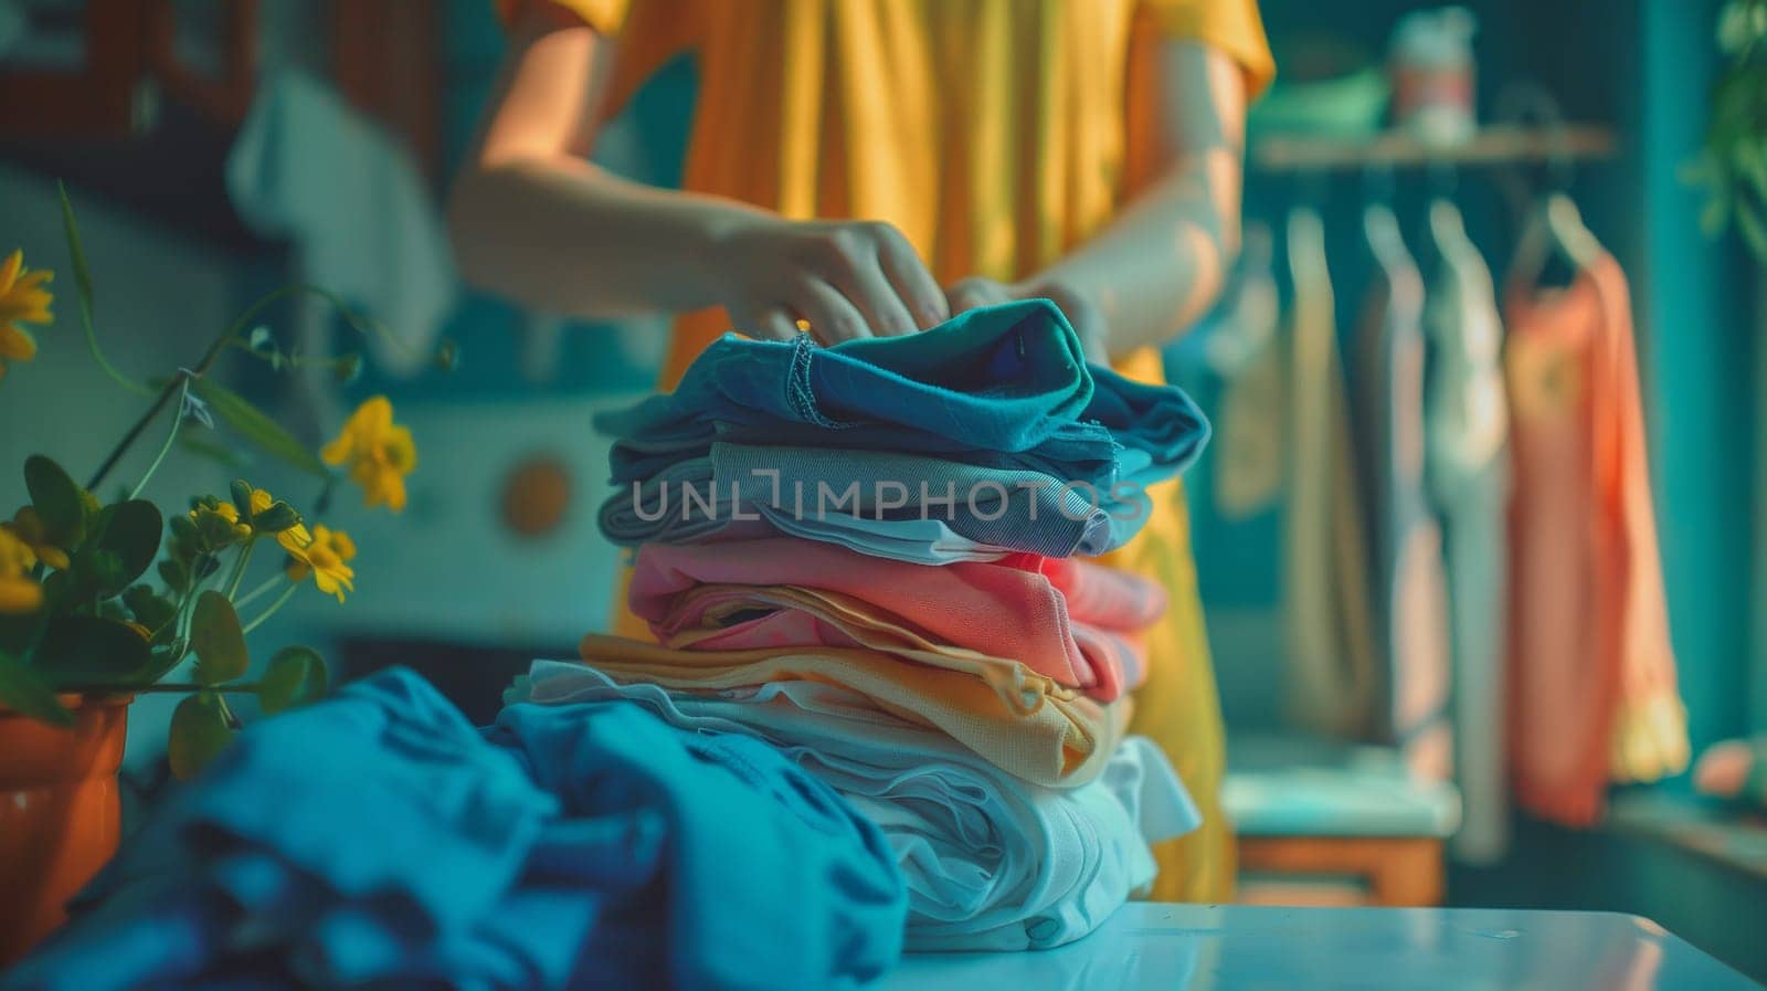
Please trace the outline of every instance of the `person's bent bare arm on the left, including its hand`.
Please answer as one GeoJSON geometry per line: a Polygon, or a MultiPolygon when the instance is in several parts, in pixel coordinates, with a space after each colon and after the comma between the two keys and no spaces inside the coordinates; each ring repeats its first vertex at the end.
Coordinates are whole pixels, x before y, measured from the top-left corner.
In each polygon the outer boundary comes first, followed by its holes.
{"type": "Polygon", "coordinates": [[[525,306],[587,318],[724,306],[735,329],[825,341],[908,334],[949,316],[899,231],[792,223],[755,207],[624,180],[583,159],[613,42],[523,16],[477,147],[449,198],[465,277],[525,306]]]}

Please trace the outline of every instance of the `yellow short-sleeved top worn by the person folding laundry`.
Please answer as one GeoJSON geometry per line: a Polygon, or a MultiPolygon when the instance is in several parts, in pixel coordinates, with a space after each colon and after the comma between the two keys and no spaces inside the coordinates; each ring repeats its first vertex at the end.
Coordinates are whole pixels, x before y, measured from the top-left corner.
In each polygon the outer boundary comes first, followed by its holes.
{"type": "MultiPolygon", "coordinates": [[[[1133,122],[1150,78],[1136,46],[1191,39],[1274,74],[1255,0],[498,0],[553,2],[617,39],[618,110],[664,60],[698,58],[682,185],[786,217],[889,221],[940,283],[1025,277],[1103,228],[1143,177],[1133,122]]],[[[671,389],[730,329],[723,309],[680,318],[671,389]]],[[[1152,348],[1120,371],[1163,382],[1152,348]]],[[[1161,742],[1205,827],[1159,850],[1154,896],[1219,901],[1232,834],[1219,807],[1219,701],[1179,488],[1150,493],[1147,530],[1108,564],[1161,581],[1172,611],[1149,636],[1136,733],[1161,742]]],[[[634,631],[631,617],[617,625],[634,631]]],[[[641,631],[641,625],[636,625],[641,631]]]]}

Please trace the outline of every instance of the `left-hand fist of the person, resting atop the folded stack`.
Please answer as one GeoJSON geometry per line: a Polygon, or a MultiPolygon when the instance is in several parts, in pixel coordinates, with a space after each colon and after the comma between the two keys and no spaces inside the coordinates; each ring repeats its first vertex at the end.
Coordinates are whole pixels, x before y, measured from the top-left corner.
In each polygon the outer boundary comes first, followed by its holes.
{"type": "Polygon", "coordinates": [[[737,330],[790,341],[797,322],[825,344],[896,337],[951,316],[908,238],[878,221],[739,224],[714,251],[717,293],[737,330]]]}

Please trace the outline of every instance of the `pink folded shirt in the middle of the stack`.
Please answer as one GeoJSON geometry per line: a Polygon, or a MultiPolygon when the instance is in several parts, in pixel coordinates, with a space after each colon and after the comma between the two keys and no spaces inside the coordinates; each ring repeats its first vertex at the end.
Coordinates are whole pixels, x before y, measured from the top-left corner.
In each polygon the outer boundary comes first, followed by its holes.
{"type": "MultiPolygon", "coordinates": [[[[1141,682],[1133,632],[1164,611],[1157,585],[1087,562],[1012,555],[935,567],[793,539],[647,544],[633,572],[631,609],[659,639],[671,639],[703,624],[707,602],[684,599],[701,585],[834,592],[928,641],[1018,661],[1101,701],[1141,682]]],[[[838,627],[792,608],[694,641],[696,650],[848,645],[838,627]]]]}

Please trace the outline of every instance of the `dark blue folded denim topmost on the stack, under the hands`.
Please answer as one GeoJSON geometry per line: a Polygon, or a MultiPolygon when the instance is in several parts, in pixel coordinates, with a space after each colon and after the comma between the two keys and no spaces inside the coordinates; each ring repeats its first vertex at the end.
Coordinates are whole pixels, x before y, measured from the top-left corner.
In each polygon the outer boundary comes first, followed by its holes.
{"type": "Polygon", "coordinates": [[[1110,486],[1124,449],[1173,473],[1209,427],[1179,389],[1088,369],[1050,300],[974,309],[905,337],[829,348],[726,334],[675,392],[595,417],[613,480],[650,479],[714,440],[937,454],[1110,486]],[[1108,394],[1101,394],[1101,387],[1108,394]]]}

